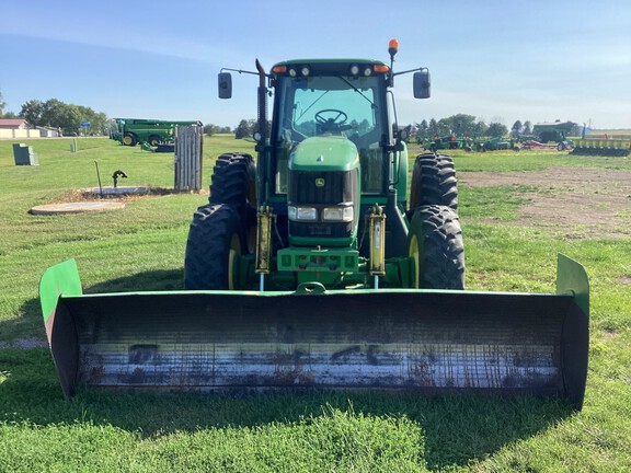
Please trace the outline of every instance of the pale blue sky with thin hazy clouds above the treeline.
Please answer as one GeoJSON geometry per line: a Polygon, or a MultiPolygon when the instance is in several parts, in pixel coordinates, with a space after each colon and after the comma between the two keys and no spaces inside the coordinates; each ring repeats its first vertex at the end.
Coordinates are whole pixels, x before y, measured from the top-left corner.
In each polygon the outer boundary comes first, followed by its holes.
{"type": "Polygon", "coordinates": [[[199,119],[236,127],[256,116],[257,79],[286,59],[369,58],[427,67],[432,97],[397,77],[400,124],[473,115],[631,129],[631,2],[43,0],[0,4],[5,112],[58,99],[108,117],[199,119]]]}

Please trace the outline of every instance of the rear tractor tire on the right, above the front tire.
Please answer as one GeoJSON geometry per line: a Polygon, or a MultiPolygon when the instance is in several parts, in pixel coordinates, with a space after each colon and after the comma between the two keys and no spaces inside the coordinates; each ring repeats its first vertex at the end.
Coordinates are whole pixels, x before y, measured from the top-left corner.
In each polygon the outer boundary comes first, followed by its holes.
{"type": "Polygon", "coordinates": [[[454,160],[446,154],[423,153],[416,157],[410,186],[410,209],[439,205],[458,210],[458,181],[454,160]]]}

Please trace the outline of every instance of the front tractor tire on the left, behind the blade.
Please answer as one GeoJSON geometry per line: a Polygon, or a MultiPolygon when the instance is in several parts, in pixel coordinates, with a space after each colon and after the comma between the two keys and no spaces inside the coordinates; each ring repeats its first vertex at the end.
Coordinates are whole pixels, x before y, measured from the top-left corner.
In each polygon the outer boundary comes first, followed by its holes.
{"type": "Polygon", "coordinates": [[[236,289],[234,257],[241,255],[241,223],[229,205],[207,205],[193,215],[184,257],[184,287],[236,289]]]}

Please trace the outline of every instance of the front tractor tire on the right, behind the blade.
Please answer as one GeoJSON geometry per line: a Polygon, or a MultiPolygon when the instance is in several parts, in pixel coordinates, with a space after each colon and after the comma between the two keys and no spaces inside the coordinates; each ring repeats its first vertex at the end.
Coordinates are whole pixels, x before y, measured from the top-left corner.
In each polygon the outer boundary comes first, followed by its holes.
{"type": "Polygon", "coordinates": [[[447,206],[422,206],[410,223],[408,251],[412,288],[464,289],[464,245],[458,214],[447,206]]]}

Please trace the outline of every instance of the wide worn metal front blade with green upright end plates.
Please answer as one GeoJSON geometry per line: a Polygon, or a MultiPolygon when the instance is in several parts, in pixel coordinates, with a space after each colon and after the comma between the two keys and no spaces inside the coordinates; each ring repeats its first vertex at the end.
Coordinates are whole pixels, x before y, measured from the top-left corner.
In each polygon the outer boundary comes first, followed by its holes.
{"type": "Polygon", "coordinates": [[[348,290],[81,295],[73,261],[41,284],[61,387],[528,392],[581,408],[588,282],[557,295],[348,290]]]}

